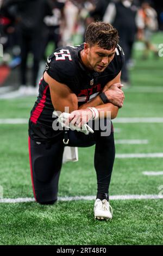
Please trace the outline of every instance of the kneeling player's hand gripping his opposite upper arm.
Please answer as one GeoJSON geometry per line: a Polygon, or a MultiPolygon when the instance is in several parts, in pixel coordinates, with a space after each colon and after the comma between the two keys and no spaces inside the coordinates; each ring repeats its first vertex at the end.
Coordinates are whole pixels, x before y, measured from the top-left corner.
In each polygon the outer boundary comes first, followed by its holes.
{"type": "Polygon", "coordinates": [[[105,93],[106,97],[108,97],[109,101],[121,108],[123,107],[124,101],[124,93],[122,91],[123,84],[121,83],[114,83],[108,89],[104,87],[103,92],[105,93]]]}

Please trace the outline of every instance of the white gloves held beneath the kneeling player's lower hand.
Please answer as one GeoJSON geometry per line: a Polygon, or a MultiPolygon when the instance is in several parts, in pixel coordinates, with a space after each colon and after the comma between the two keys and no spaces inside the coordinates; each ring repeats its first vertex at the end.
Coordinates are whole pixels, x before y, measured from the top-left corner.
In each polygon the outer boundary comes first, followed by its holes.
{"type": "MultiPolygon", "coordinates": [[[[56,115],[56,112],[54,113],[56,115]]],[[[70,128],[71,130],[76,130],[78,132],[83,132],[85,135],[88,135],[89,132],[94,133],[91,127],[87,124],[82,125],[82,127],[74,126],[70,124],[70,126],[65,125],[67,118],[70,116],[69,113],[63,112],[59,115],[58,122],[61,124],[62,127],[70,128]]]]}

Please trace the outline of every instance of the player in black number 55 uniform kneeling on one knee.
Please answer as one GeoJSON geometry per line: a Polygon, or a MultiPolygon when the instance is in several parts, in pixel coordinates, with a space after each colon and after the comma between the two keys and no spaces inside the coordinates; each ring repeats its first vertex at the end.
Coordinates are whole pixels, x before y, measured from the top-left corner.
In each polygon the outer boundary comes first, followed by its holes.
{"type": "Polygon", "coordinates": [[[30,169],[34,196],[40,204],[57,201],[64,147],[96,144],[94,214],[101,220],[112,218],[109,184],[115,144],[107,113],[114,119],[124,100],[121,90],[124,54],[117,42],[118,32],[109,23],[91,23],[83,44],[60,47],[47,58],[39,96],[29,119],[30,169]],[[103,120],[104,127],[98,123],[96,129],[95,119],[103,120]],[[89,120],[93,120],[92,129],[87,125],[89,120]]]}

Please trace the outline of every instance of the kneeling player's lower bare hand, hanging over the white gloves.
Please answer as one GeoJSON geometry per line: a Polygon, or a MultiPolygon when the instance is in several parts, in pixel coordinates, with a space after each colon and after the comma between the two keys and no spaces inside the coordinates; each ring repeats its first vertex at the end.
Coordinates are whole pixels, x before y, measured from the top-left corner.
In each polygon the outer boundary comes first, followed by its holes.
{"type": "Polygon", "coordinates": [[[80,109],[71,112],[65,125],[82,127],[93,118],[92,111],[90,109],[80,109]]]}

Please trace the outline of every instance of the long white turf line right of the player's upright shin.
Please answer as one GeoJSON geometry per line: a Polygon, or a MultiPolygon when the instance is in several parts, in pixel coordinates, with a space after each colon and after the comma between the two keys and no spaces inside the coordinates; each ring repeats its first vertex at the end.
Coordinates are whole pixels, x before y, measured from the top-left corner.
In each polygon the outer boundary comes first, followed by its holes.
{"type": "Polygon", "coordinates": [[[163,157],[163,153],[142,153],[142,154],[116,154],[116,158],[159,158],[163,157]]]}

